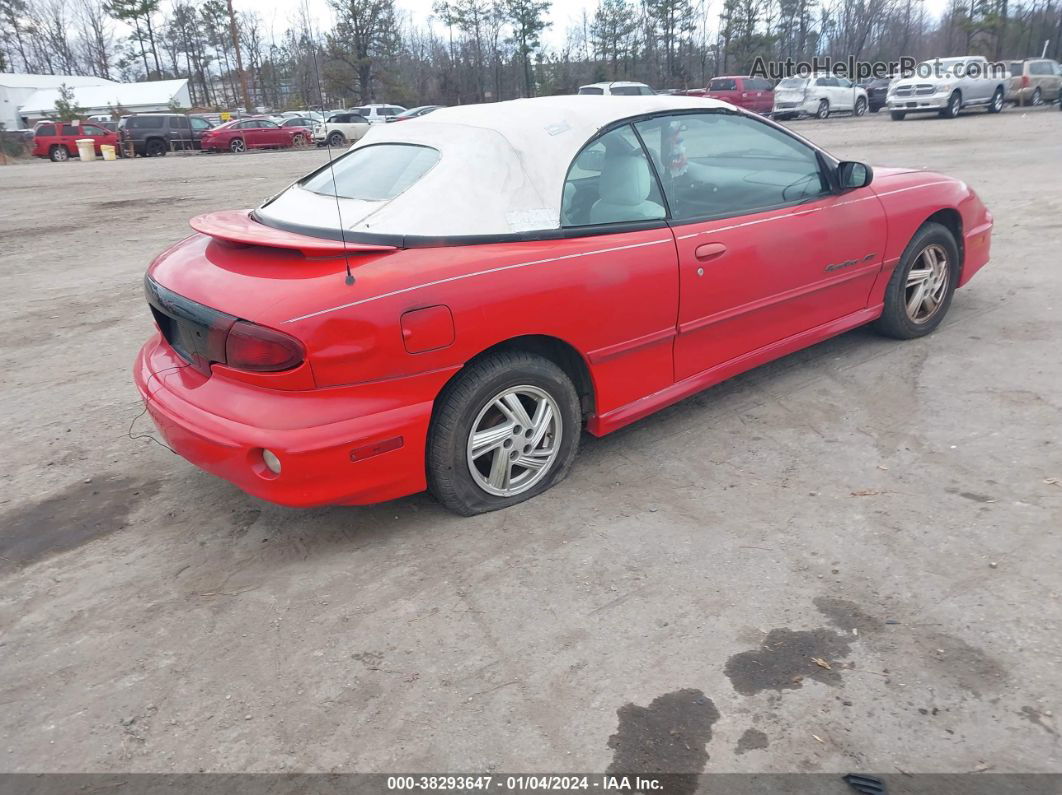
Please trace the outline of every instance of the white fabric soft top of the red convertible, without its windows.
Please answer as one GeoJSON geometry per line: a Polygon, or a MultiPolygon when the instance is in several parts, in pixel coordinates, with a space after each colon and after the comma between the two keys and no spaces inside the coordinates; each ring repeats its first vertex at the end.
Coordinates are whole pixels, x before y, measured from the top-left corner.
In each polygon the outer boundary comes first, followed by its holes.
{"type": "Polygon", "coordinates": [[[339,200],[298,184],[256,210],[287,228],[397,236],[494,236],[556,229],[572,159],[598,131],[667,110],[732,108],[695,97],[544,97],[435,110],[422,119],[374,124],[352,150],[413,143],[439,161],[397,196],[339,200]]]}

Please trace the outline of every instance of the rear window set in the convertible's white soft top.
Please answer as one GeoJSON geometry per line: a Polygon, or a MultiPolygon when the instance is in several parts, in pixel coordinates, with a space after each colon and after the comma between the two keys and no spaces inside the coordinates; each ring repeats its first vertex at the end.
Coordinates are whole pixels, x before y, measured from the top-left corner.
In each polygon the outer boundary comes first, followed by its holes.
{"type": "Polygon", "coordinates": [[[313,193],[386,202],[413,185],[439,162],[439,151],[409,143],[377,143],[353,150],[303,180],[313,193]],[[336,174],[332,183],[332,172],[336,174]]]}

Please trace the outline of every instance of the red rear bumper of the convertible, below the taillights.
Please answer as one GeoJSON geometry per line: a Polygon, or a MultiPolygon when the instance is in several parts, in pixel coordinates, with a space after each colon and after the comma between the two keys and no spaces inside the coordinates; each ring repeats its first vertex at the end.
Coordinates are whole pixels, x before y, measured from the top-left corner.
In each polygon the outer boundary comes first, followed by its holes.
{"type": "Polygon", "coordinates": [[[192,370],[158,334],[141,348],[133,375],[155,426],[182,457],[293,507],[362,505],[424,490],[432,400],[448,376],[263,390],[192,370]],[[421,393],[422,400],[410,399],[421,393]],[[276,453],[279,474],[266,468],[262,449],[276,453]]]}

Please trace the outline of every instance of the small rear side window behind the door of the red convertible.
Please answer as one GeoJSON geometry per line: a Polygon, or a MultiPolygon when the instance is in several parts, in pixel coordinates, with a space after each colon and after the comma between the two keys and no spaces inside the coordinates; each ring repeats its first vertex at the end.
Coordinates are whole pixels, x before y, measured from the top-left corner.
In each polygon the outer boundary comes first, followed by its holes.
{"type": "Polygon", "coordinates": [[[561,226],[620,224],[665,218],[660,186],[630,125],[584,146],[568,169],[561,226]]]}

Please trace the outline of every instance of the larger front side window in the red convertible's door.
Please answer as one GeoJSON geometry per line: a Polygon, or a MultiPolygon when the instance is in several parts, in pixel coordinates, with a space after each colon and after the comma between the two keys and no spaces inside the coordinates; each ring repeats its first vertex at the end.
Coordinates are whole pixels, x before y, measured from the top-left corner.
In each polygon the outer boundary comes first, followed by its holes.
{"type": "Polygon", "coordinates": [[[755,119],[705,113],[636,126],[676,221],[758,212],[829,190],[813,149],[755,119]]]}

